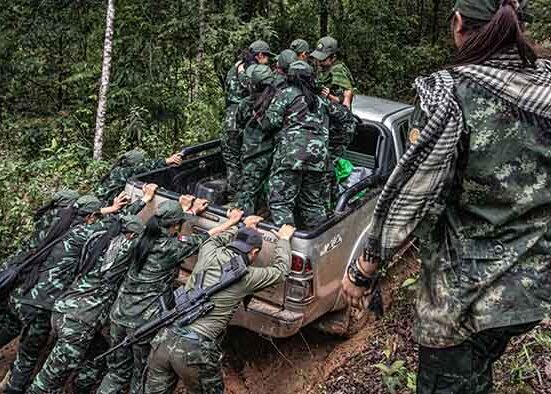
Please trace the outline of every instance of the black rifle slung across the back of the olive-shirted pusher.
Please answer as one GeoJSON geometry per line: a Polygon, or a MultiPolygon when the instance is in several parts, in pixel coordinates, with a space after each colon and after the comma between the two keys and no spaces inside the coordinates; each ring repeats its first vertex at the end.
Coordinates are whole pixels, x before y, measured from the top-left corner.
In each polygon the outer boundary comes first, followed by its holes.
{"type": "Polygon", "coordinates": [[[176,289],[174,292],[176,306],[173,309],[161,312],[158,318],[145,323],[131,335],[127,335],[118,345],[97,356],[94,362],[122,347],[131,346],[155,335],[161,328],[169,326],[175,321],[185,326],[209,313],[214,308],[214,304],[209,301],[210,297],[236,283],[248,272],[245,258],[241,255],[233,257],[220,268],[222,275],[218,283],[203,289],[205,271],[197,273],[196,286],[193,289],[186,291],[183,286],[176,289]]]}

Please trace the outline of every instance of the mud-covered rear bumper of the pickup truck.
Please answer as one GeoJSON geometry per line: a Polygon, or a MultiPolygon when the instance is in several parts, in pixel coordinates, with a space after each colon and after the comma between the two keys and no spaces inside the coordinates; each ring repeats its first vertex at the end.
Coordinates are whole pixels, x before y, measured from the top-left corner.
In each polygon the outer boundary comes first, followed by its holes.
{"type": "Polygon", "coordinates": [[[262,300],[253,299],[247,310],[239,308],[230,324],[247,328],[274,338],[286,338],[302,327],[304,314],[281,309],[262,300]]]}

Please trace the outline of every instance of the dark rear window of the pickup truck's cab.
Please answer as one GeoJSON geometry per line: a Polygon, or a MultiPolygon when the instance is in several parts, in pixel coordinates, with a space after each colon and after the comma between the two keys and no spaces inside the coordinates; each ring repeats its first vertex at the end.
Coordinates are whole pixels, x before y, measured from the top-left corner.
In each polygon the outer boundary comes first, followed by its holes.
{"type": "Polygon", "coordinates": [[[356,129],[356,135],[344,155],[354,166],[374,170],[377,166],[377,149],[381,133],[378,128],[361,124],[356,129]]]}

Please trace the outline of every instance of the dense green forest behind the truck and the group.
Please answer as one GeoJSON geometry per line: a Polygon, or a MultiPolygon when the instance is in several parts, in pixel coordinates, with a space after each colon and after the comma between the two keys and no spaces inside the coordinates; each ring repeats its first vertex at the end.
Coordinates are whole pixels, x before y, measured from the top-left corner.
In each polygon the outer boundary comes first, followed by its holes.
{"type": "MultiPolygon", "coordinates": [[[[0,7],[0,254],[58,187],[86,190],[107,1],[19,0],[0,7]]],[[[550,44],[551,7],[533,0],[529,31],[550,44]]],[[[410,101],[414,78],[446,64],[451,0],[115,1],[104,158],[152,156],[215,138],[223,80],[255,39],[272,51],[330,34],[358,92],[410,101]]],[[[1,256],[0,256],[1,257],[1,256]]]]}

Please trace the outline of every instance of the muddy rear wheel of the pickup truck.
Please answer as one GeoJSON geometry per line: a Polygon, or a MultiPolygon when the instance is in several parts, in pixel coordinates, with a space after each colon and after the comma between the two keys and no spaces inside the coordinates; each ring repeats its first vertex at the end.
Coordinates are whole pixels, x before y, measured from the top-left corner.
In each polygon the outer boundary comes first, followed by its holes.
{"type": "Polygon", "coordinates": [[[370,313],[365,309],[352,306],[329,312],[313,324],[313,327],[330,335],[348,338],[357,334],[370,320],[370,313]]]}

